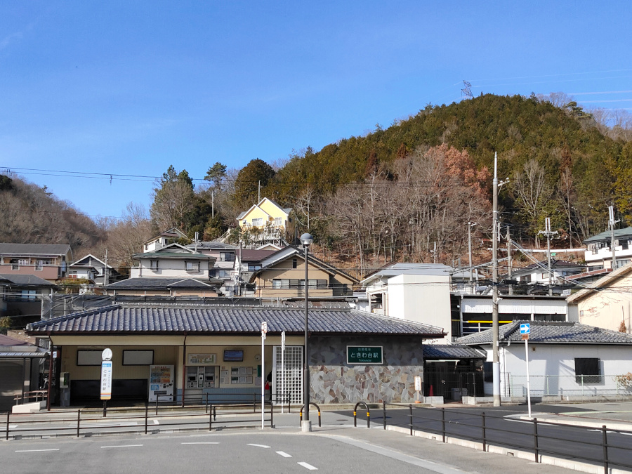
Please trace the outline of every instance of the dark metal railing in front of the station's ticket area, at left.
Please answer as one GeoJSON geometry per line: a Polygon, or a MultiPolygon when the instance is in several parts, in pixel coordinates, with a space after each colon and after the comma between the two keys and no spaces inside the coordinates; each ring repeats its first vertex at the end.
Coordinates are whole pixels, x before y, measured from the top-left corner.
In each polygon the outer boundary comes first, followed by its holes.
{"type": "MultiPolygon", "coordinates": [[[[202,405],[188,407],[185,410],[178,409],[177,412],[171,410],[172,407],[161,406],[161,408],[163,410],[159,414],[150,414],[149,404],[145,404],[145,407],[140,410],[110,408],[111,416],[107,419],[109,423],[104,423],[101,409],[60,410],[54,412],[53,416],[50,413],[41,416],[39,413],[12,415],[11,412],[7,412],[4,439],[9,440],[11,437],[19,439],[25,433],[37,437],[51,434],[80,437],[82,434],[88,436],[96,433],[145,433],[146,435],[149,431],[159,433],[160,430],[205,430],[206,427],[211,431],[213,423],[216,423],[216,428],[217,423],[221,426],[239,423],[244,426],[261,426],[261,417],[246,416],[252,414],[251,404],[215,403],[206,407],[202,405]],[[150,422],[150,418],[153,421],[150,422]]],[[[269,418],[264,418],[264,421],[270,423],[270,428],[274,428],[274,406],[268,402],[264,404],[264,408],[265,414],[270,414],[269,418]]],[[[257,412],[261,413],[261,409],[255,411],[257,412]]]]}

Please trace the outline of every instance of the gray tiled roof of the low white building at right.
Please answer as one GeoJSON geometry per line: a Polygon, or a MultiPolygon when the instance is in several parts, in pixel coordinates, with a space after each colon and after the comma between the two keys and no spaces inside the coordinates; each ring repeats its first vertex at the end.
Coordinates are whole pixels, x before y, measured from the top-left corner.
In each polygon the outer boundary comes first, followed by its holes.
{"type": "MultiPolygon", "coordinates": [[[[499,341],[521,342],[520,323],[531,324],[529,343],[545,344],[631,344],[632,334],[610,331],[579,322],[514,321],[499,327],[499,341]]],[[[492,329],[459,338],[467,345],[491,344],[492,329]]]]}

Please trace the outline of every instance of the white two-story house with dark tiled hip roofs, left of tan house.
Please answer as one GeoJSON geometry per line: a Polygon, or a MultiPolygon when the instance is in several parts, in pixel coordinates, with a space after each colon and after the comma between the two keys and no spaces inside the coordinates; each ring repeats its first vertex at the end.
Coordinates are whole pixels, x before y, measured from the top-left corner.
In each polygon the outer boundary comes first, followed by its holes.
{"type": "Polygon", "coordinates": [[[132,256],[130,277],[107,285],[108,293],[133,296],[217,296],[223,281],[211,277],[215,258],[170,244],[132,256]]]}

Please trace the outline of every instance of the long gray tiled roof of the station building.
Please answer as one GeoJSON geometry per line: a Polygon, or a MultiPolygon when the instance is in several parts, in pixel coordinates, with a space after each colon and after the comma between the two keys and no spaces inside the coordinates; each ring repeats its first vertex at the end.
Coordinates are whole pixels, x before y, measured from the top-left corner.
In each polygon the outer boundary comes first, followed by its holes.
{"type": "MultiPolygon", "coordinates": [[[[261,322],[268,331],[279,334],[303,334],[305,313],[298,308],[212,307],[178,308],[175,306],[125,307],[112,305],[96,310],[29,324],[29,334],[108,334],[108,333],[180,333],[251,334],[261,333],[261,322]]],[[[370,334],[427,336],[445,334],[442,329],[371,315],[357,310],[310,310],[312,334],[370,334]]]]}

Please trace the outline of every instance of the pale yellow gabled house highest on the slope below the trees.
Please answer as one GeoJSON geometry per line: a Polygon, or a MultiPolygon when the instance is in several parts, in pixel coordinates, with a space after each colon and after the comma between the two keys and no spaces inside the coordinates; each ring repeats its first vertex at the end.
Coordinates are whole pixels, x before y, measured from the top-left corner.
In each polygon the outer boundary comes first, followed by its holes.
{"type": "Polygon", "coordinates": [[[242,230],[249,230],[254,240],[286,239],[294,241],[294,215],[291,208],[283,208],[272,199],[264,197],[248,211],[237,216],[242,230]]]}

